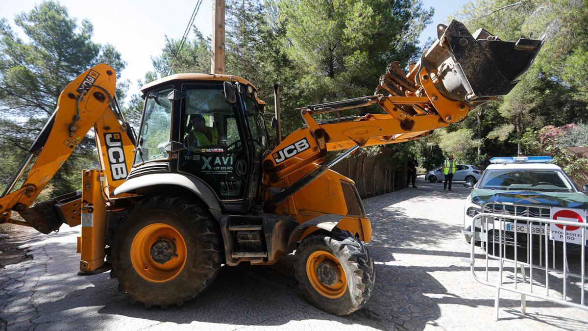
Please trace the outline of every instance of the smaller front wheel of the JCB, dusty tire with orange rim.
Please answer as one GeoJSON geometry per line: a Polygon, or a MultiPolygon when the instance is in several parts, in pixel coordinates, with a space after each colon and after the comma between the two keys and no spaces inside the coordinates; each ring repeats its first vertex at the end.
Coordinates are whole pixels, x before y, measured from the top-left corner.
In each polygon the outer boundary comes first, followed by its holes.
{"type": "Polygon", "coordinates": [[[376,280],[367,247],[348,231],[306,237],[296,250],[295,267],[306,299],[339,316],[363,307],[376,280]]]}

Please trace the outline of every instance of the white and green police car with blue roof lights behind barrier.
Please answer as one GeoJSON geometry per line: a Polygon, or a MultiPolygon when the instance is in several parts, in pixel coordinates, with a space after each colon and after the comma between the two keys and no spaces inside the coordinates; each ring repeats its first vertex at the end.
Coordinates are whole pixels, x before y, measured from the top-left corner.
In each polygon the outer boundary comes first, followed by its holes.
{"type": "MultiPolygon", "coordinates": [[[[486,212],[511,214],[526,217],[552,219],[553,211],[577,211],[579,221],[586,220],[588,185],[578,188],[573,180],[555,164],[551,157],[495,157],[476,183],[464,183],[472,189],[467,197],[463,215],[465,239],[471,242],[472,220],[486,206],[486,212]]],[[[476,243],[480,240],[480,220],[476,220],[476,243]]],[[[517,246],[525,247],[529,231],[545,236],[545,227],[524,222],[517,223],[517,246]]],[[[515,245],[514,222],[505,224],[502,240],[509,246],[515,245]]],[[[499,231],[489,230],[489,240],[495,236],[498,242],[499,231]]],[[[534,241],[536,243],[538,241],[534,241]]]]}

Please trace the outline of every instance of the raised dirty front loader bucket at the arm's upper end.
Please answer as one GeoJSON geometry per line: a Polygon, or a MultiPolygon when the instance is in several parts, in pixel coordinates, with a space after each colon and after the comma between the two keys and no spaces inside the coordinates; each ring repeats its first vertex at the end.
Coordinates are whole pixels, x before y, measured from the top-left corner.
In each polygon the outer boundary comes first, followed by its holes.
{"type": "Polygon", "coordinates": [[[437,33],[421,65],[437,76],[435,85],[446,98],[470,106],[508,94],[543,44],[536,39],[502,41],[484,29],[472,35],[455,20],[448,27],[438,25],[437,33]]]}

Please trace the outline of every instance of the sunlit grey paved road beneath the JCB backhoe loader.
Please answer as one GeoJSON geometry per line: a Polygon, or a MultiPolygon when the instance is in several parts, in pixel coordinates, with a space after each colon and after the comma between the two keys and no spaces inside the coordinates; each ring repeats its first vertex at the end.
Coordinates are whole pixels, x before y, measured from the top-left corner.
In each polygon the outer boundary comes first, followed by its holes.
{"type": "Polygon", "coordinates": [[[370,301],[350,316],[330,315],[304,299],[291,255],[269,267],[223,266],[202,296],[146,310],[130,304],[108,273],[76,275],[79,228],[50,235],[19,228],[9,240],[30,245],[32,259],[0,269],[0,330],[588,329],[585,310],[527,298],[523,316],[520,297],[505,292],[495,322],[495,291],[477,283],[462,261],[470,249],[460,233],[468,191],[461,184],[453,193],[442,184],[417,185],[364,201],[377,282],[370,301]]]}

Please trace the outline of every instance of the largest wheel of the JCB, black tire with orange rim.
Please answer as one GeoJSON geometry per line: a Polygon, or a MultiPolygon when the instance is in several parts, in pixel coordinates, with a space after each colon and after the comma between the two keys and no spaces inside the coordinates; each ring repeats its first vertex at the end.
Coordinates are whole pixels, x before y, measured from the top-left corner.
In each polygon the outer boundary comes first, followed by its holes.
{"type": "Polygon", "coordinates": [[[185,197],[139,201],[114,227],[112,267],[119,289],[145,307],[181,306],[215,279],[222,259],[218,224],[185,197]]]}

